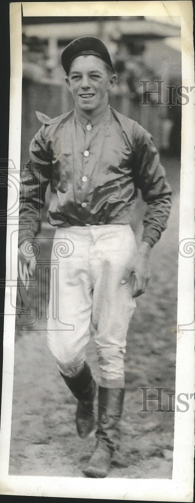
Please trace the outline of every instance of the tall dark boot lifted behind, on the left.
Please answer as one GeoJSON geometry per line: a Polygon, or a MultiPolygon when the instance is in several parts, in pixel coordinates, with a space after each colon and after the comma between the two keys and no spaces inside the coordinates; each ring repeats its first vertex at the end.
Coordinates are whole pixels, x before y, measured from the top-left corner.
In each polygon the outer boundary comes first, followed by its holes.
{"type": "Polygon", "coordinates": [[[84,439],[93,430],[95,425],[93,401],[96,392],[96,384],[91,375],[90,367],[85,362],[84,368],[78,376],[66,377],[62,373],[61,375],[72,391],[72,394],[78,399],[76,427],[79,436],[84,439]]]}

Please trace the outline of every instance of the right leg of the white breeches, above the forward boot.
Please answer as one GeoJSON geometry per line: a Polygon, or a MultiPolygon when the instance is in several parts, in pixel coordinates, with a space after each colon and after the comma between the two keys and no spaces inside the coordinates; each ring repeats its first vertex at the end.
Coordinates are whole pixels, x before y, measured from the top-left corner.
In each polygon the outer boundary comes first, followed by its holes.
{"type": "Polygon", "coordinates": [[[127,225],[104,226],[94,241],[92,322],[103,387],[124,387],[126,335],[136,302],[130,282],[121,280],[135,251],[135,237],[127,225]]]}

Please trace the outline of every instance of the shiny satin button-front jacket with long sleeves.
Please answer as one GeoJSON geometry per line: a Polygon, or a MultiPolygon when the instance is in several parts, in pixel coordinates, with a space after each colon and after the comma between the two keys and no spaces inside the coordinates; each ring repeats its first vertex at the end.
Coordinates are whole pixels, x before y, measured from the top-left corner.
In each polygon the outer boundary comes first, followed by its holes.
{"type": "Polygon", "coordinates": [[[147,203],[142,239],[153,246],[166,228],[171,189],[151,135],[109,106],[92,122],[75,109],[37,116],[43,125],[21,174],[19,244],[40,231],[50,183],[53,226],[130,224],[139,188],[147,203]]]}

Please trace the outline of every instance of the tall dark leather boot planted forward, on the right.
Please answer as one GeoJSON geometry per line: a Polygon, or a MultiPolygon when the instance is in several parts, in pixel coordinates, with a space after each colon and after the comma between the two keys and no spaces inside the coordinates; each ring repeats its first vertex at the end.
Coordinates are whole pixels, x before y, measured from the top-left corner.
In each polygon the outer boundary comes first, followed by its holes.
{"type": "Polygon", "coordinates": [[[113,453],[120,444],[120,418],[124,401],[124,388],[103,388],[99,386],[98,429],[95,452],[83,472],[88,477],[106,477],[110,469],[113,453]]]}

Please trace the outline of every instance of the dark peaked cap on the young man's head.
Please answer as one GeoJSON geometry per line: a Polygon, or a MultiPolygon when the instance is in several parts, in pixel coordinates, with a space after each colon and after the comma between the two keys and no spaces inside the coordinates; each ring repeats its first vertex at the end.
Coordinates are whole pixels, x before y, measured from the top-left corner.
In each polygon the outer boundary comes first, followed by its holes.
{"type": "Polygon", "coordinates": [[[62,53],[62,66],[67,75],[69,74],[73,59],[84,54],[92,54],[103,59],[114,73],[109,52],[103,42],[96,37],[79,37],[67,45],[62,53]]]}

